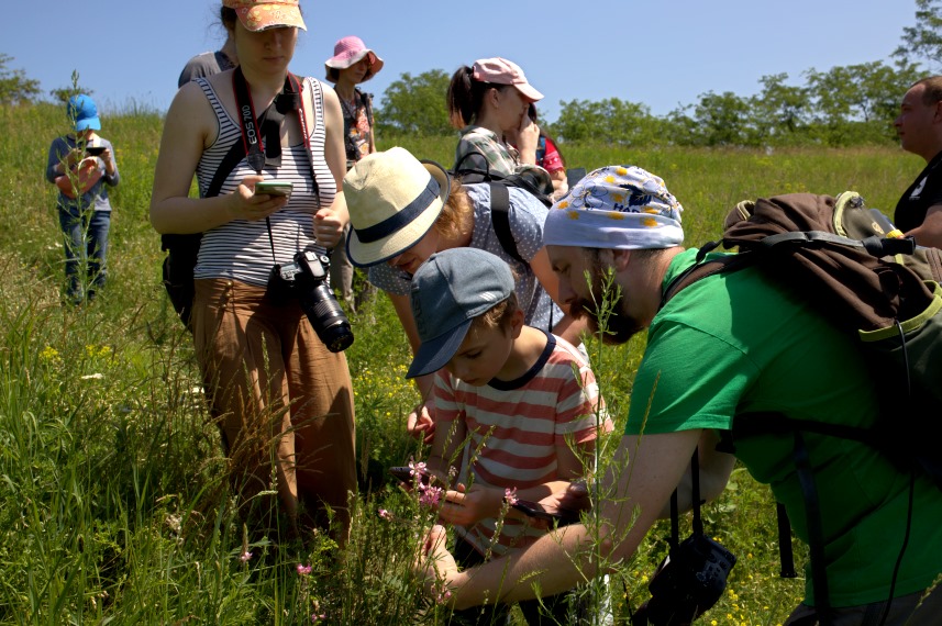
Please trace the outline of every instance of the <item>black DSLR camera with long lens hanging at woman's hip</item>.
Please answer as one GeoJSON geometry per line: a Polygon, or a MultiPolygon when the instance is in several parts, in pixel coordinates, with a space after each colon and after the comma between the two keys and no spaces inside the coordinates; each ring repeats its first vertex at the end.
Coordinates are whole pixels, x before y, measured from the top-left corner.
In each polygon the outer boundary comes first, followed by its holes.
{"type": "Polygon", "coordinates": [[[340,353],[353,344],[353,329],[330,288],[330,267],[326,250],[300,250],[292,262],[271,268],[268,294],[278,304],[296,299],[321,342],[340,353]]]}

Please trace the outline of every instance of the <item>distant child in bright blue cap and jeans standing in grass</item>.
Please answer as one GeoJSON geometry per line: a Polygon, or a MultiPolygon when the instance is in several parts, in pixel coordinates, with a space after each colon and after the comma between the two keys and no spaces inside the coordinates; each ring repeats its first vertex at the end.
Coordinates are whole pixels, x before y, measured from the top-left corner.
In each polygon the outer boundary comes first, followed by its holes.
{"type": "Polygon", "coordinates": [[[56,205],[65,244],[66,299],[80,304],[95,299],[108,276],[108,188],[118,186],[119,175],[111,142],[97,133],[101,119],[95,100],[73,96],[66,112],[74,132],[53,139],[46,180],[59,190],[56,205]]]}

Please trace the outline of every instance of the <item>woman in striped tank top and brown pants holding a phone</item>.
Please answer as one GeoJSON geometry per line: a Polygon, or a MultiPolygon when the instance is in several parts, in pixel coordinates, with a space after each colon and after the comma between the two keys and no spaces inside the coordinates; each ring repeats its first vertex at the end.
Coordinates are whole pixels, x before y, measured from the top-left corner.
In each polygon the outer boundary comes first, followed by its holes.
{"type": "Polygon", "coordinates": [[[162,234],[202,233],[190,326],[244,513],[263,529],[269,523],[259,496],[274,476],[292,530],[326,525],[329,506],[343,540],[356,491],[346,358],[321,340],[297,297],[278,298],[284,275],[273,271],[334,247],[347,222],[341,107],[326,85],[288,71],[304,29],[298,0],[222,4],[239,67],[174,98],[151,222],[162,234]],[[193,175],[199,198],[188,197],[193,175]]]}

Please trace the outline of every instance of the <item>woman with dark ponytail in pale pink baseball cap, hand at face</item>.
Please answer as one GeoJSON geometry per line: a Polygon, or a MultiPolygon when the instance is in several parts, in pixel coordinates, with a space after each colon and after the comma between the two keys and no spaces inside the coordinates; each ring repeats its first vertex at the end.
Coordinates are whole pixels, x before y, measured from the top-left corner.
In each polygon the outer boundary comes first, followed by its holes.
{"type": "Polygon", "coordinates": [[[530,171],[551,195],[550,175],[536,165],[540,128],[527,115],[530,104],[542,98],[520,66],[506,58],[483,58],[458,68],[448,85],[451,123],[461,131],[454,169],[530,171]]]}

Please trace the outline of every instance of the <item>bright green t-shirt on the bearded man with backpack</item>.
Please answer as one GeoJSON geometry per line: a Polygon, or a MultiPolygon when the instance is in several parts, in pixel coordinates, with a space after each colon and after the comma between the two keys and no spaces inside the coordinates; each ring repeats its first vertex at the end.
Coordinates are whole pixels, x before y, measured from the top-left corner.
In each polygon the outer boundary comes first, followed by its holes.
{"type": "MultiPolygon", "coordinates": [[[[686,250],[672,261],[665,287],[696,253],[686,250]]],[[[738,413],[763,411],[867,426],[876,418],[877,401],[854,342],[757,269],[702,279],[654,317],[625,432],[729,429],[738,413]]],[[[850,439],[806,433],[805,440],[821,506],[831,605],[886,600],[906,533],[908,474],[850,439]]],[[[736,458],[769,484],[807,543],[791,437],[749,437],[735,446],[736,458]]],[[[919,477],[895,595],[926,589],[939,572],[942,492],[919,477]]],[[[806,581],[806,602],[813,604],[810,566],[806,581]]]]}

